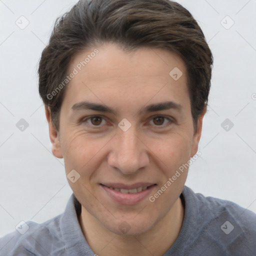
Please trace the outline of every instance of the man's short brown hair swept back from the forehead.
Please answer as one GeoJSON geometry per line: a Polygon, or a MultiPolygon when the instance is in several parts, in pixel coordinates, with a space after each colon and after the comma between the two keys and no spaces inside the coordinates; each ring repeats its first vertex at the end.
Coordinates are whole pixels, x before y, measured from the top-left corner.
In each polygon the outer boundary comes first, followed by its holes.
{"type": "Polygon", "coordinates": [[[55,21],[39,61],[39,94],[59,128],[65,88],[49,97],[65,79],[71,57],[95,45],[113,42],[123,50],[168,49],[187,67],[194,129],[208,101],[213,57],[190,12],[169,0],[79,0],[55,21]]]}

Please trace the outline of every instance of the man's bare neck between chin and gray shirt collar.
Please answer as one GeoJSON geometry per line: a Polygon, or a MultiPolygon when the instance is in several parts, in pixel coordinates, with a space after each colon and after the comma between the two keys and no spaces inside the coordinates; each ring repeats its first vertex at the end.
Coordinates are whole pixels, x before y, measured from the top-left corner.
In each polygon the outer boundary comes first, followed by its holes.
{"type": "Polygon", "coordinates": [[[83,235],[99,256],[163,255],[175,242],[182,226],[184,208],[178,198],[169,212],[149,231],[139,235],[118,235],[106,229],[81,207],[79,223],[83,235]]]}

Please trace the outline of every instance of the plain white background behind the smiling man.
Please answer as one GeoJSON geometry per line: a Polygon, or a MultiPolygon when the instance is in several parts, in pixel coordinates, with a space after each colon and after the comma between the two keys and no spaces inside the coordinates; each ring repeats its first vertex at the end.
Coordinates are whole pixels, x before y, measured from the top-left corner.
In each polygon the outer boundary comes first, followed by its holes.
{"type": "MultiPolygon", "coordinates": [[[[36,71],[55,18],[75,2],[0,1],[0,236],[20,220],[63,212],[72,192],[63,160],[51,153],[36,71]],[[24,29],[15,24],[21,15],[29,21],[24,29]],[[29,124],[24,131],[15,125],[21,118],[29,124]]],[[[214,57],[201,157],[186,185],[256,212],[256,0],[178,2],[199,22],[214,57]],[[220,23],[226,15],[234,21],[229,29],[220,23]],[[226,118],[234,124],[229,131],[220,125],[226,118]]]]}

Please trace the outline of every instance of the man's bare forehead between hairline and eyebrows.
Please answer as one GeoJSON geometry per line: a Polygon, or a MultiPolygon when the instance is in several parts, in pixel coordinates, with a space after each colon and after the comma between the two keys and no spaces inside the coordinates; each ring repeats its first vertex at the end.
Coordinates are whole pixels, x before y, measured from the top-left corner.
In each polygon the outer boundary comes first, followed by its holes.
{"type": "Polygon", "coordinates": [[[73,56],[68,72],[74,68],[77,74],[69,81],[65,93],[72,103],[84,97],[106,104],[117,102],[120,96],[141,104],[150,99],[149,103],[163,101],[163,97],[176,103],[189,98],[185,64],[166,49],[144,47],[124,51],[114,44],[104,44],[73,56]]]}

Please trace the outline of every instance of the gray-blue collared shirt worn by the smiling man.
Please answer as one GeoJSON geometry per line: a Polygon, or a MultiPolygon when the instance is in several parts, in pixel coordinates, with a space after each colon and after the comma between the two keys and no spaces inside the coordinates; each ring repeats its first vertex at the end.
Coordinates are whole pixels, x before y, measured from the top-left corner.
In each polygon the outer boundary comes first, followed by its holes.
{"type": "MultiPolygon", "coordinates": [[[[183,224],[163,256],[256,255],[255,213],[227,200],[204,197],[187,186],[180,196],[185,205],[183,224]]],[[[80,210],[72,194],[62,214],[40,224],[27,221],[20,227],[23,231],[0,238],[0,256],[94,256],[79,226],[80,210]]]]}

